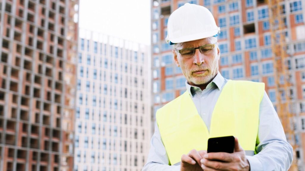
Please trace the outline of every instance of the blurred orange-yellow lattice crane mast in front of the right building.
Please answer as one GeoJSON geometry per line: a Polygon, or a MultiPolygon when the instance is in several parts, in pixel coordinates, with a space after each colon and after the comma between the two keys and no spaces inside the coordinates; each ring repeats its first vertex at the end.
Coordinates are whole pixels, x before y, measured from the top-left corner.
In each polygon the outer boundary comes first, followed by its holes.
{"type": "Polygon", "coordinates": [[[276,92],[276,109],[278,116],[282,122],[287,141],[293,147],[293,162],[289,170],[298,170],[296,151],[297,144],[295,141],[295,132],[293,118],[295,117],[292,111],[292,103],[290,101],[289,86],[289,71],[288,63],[286,65],[285,58],[289,57],[287,54],[286,40],[285,40],[285,26],[283,22],[283,0],[268,0],[269,6],[269,23],[271,33],[271,49],[274,66],[274,82],[276,92]]]}

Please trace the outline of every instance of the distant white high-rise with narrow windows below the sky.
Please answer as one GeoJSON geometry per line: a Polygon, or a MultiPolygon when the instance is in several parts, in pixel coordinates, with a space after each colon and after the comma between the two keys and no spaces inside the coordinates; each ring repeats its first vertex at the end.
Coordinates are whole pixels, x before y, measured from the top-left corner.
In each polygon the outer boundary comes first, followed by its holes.
{"type": "Polygon", "coordinates": [[[150,140],[149,48],[80,29],[74,170],[140,171],[150,140]]]}

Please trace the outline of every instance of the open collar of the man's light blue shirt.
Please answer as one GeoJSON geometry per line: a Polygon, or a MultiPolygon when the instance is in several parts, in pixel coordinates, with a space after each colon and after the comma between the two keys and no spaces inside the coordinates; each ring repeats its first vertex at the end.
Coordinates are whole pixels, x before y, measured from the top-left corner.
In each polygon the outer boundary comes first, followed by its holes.
{"type": "MultiPolygon", "coordinates": [[[[224,84],[224,77],[218,71],[217,75],[215,76],[215,78],[206,86],[206,88],[210,88],[212,86],[216,86],[220,90],[222,88],[223,84],[224,84]]],[[[185,81],[185,85],[186,85],[186,91],[192,97],[193,97],[193,93],[200,89],[197,86],[189,85],[188,81],[185,81]]]]}

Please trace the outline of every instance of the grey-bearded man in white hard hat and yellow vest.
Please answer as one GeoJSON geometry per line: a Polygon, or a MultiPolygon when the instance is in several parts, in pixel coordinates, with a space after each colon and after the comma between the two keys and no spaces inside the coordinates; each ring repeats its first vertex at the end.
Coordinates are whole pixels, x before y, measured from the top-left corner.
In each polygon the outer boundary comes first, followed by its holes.
{"type": "Polygon", "coordinates": [[[186,3],[168,19],[167,41],[186,89],[156,112],[155,133],[142,171],[288,170],[292,146],[264,83],[224,79],[211,12],[186,3]],[[211,137],[235,137],[234,153],[206,153],[211,137]]]}

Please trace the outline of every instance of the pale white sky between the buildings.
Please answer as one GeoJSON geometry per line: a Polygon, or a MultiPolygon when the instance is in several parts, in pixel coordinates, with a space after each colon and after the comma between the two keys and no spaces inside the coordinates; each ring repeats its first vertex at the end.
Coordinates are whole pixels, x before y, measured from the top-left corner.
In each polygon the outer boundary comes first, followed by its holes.
{"type": "Polygon", "coordinates": [[[150,45],[150,0],[80,0],[79,27],[150,45]]]}

